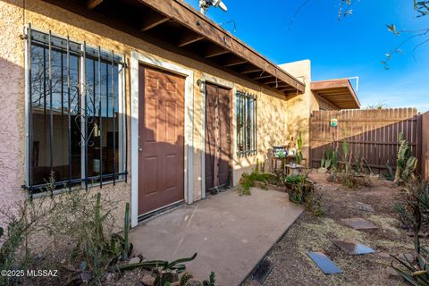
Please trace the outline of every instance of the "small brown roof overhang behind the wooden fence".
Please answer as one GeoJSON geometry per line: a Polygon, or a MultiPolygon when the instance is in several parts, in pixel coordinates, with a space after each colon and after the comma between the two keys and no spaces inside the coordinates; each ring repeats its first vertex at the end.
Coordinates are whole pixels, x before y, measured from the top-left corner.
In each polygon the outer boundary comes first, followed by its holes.
{"type": "Polygon", "coordinates": [[[311,90],[338,109],[360,108],[355,89],[348,79],[313,81],[311,90]]]}

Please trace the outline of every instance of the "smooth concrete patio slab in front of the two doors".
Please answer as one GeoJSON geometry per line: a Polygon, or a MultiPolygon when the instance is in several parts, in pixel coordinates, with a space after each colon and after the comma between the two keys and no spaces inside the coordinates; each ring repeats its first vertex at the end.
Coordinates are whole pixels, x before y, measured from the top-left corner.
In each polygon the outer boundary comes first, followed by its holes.
{"type": "Polygon", "coordinates": [[[195,277],[214,271],[216,285],[239,285],[302,211],[286,193],[253,188],[251,196],[240,197],[230,189],[140,223],[130,240],[148,259],[197,252],[187,263],[195,277]]]}

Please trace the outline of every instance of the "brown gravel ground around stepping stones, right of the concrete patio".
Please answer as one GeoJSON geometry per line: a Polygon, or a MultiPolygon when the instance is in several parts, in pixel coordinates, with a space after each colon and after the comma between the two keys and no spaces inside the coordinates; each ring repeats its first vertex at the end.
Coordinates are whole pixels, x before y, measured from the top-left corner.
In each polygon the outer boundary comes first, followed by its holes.
{"type": "MultiPolygon", "coordinates": [[[[388,277],[389,254],[413,253],[413,238],[406,235],[391,205],[402,198],[400,188],[391,181],[371,179],[371,187],[347,189],[326,181],[326,174],[311,172],[316,182],[315,196],[322,196],[326,214],[302,214],[276,243],[265,259],[274,265],[263,285],[403,285],[388,277]],[[374,207],[374,213],[358,210],[357,202],[374,207]],[[377,230],[355,231],[341,223],[342,218],[361,217],[378,226],[377,230]],[[332,239],[356,239],[376,250],[374,254],[349,256],[332,244],[332,239]],[[339,265],[343,274],[324,275],[307,251],[321,251],[339,265]]],[[[423,241],[424,243],[427,241],[423,241]]],[[[245,286],[261,285],[252,279],[245,286]]]]}

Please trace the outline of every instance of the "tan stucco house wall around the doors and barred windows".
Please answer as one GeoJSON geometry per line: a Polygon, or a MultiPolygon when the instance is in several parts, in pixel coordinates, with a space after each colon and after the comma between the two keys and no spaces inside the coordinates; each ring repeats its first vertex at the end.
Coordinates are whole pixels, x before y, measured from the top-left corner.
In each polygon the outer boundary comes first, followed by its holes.
{"type": "MultiPolygon", "coordinates": [[[[131,51],[150,54],[160,61],[172,62],[194,71],[194,199],[201,198],[202,181],[202,147],[204,145],[203,129],[203,93],[197,85],[197,80],[204,78],[205,74],[234,83],[234,88],[247,90],[257,94],[257,135],[258,155],[234,160],[233,168],[236,170],[235,181],[240,178],[243,170],[248,171],[254,167],[257,157],[266,158],[266,151],[273,145],[288,144],[293,138],[296,142],[298,130],[304,137],[307,147],[307,120],[309,116],[310,95],[306,92],[293,98],[286,98],[281,93],[274,92],[260,86],[232,76],[229,73],[214,69],[213,67],[187,57],[174,54],[161,47],[151,45],[140,38],[112,29],[96,21],[90,21],[77,14],[69,13],[55,5],[46,4],[38,0],[27,1],[23,9],[22,1],[0,1],[1,29],[0,34],[0,101],[3,104],[0,121],[3,123],[0,135],[3,137],[0,147],[0,192],[2,193],[1,207],[10,205],[13,200],[23,198],[21,185],[24,183],[24,40],[21,39],[23,24],[31,23],[34,29],[52,30],[59,36],[70,36],[79,42],[86,41],[91,46],[101,46],[106,50],[114,50],[125,55],[130,62],[131,51]]],[[[304,81],[309,86],[310,79],[304,81]]],[[[130,98],[130,69],[126,71],[126,98],[130,98]]],[[[130,103],[127,105],[130,108],[130,103]]],[[[130,114],[130,110],[127,111],[130,114]]],[[[130,123],[130,120],[128,121],[130,123]]],[[[130,130],[130,126],[129,126],[130,130]]],[[[130,134],[130,133],[129,133],[130,134]]],[[[235,134],[233,134],[235,136],[235,134]]],[[[130,139],[128,140],[130,144],[130,139]]],[[[130,147],[129,147],[130,150],[130,147]]],[[[129,152],[130,156],[130,152],[129,152]]],[[[235,156],[234,156],[235,157],[235,156]]],[[[130,157],[128,159],[130,163],[130,157]]],[[[131,178],[133,173],[128,166],[131,178]]],[[[98,191],[94,188],[91,191],[98,191]]],[[[102,192],[110,192],[118,201],[130,200],[129,183],[120,182],[105,186],[102,192]]],[[[124,204],[123,204],[124,205],[124,204]]],[[[122,211],[122,210],[121,210],[122,211]]]]}

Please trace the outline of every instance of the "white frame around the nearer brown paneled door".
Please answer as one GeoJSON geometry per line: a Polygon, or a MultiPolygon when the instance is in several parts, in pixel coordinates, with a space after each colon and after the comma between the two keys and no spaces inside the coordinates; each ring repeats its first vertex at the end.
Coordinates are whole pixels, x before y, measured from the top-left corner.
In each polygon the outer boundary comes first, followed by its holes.
{"type": "Polygon", "coordinates": [[[139,64],[143,63],[158,70],[169,71],[185,77],[185,122],[184,122],[184,199],[188,204],[194,201],[193,194],[193,129],[194,129],[194,71],[178,64],[167,62],[147,53],[131,51],[131,227],[139,223],[139,64]]]}

